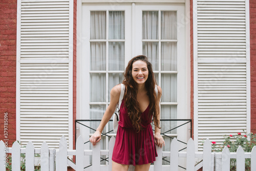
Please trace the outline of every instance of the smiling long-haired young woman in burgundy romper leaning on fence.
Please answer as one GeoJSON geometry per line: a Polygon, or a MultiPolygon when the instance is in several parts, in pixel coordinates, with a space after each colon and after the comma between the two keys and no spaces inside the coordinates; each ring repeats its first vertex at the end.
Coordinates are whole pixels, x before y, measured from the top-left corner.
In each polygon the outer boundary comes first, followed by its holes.
{"type": "MultiPolygon", "coordinates": [[[[139,55],[131,59],[124,72],[125,92],[120,109],[120,121],[113,150],[112,170],[127,170],[130,164],[135,170],[148,170],[156,160],[156,145],[165,145],[160,135],[159,102],[162,90],[155,92],[156,81],[152,65],[147,57],[139,55]],[[153,134],[151,122],[155,124],[153,134]],[[156,145],[155,145],[156,144],[156,145]]],[[[96,132],[91,136],[93,145],[101,139],[101,132],[109,122],[121,92],[121,84],[111,90],[110,105],[106,109],[96,132]]]]}

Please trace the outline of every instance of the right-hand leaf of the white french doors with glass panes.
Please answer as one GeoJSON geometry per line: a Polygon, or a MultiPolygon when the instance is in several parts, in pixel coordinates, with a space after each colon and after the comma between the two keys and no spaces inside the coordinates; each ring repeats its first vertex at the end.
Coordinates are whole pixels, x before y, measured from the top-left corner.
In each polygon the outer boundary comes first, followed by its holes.
{"type": "MultiPolygon", "coordinates": [[[[135,55],[146,55],[162,88],[161,119],[186,119],[185,25],[183,4],[136,4],[135,55]]],[[[186,127],[173,131],[184,121],[161,121],[161,132],[186,142],[186,127]]],[[[169,150],[172,139],[164,137],[169,150]]],[[[180,148],[183,148],[181,145],[180,148]]]]}

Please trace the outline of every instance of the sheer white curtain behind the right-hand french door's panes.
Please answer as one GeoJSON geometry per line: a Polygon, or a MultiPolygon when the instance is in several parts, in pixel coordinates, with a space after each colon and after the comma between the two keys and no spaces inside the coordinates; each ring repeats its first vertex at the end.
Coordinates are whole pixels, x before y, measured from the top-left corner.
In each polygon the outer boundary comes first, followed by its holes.
{"type": "MultiPolygon", "coordinates": [[[[143,54],[151,61],[155,71],[177,71],[177,20],[175,11],[161,12],[161,40],[159,39],[158,11],[143,11],[142,13],[142,42],[143,54]],[[152,41],[150,41],[152,40],[152,41]],[[154,41],[153,41],[154,40],[154,41]],[[159,48],[159,45],[161,46],[159,48]],[[159,61],[159,50],[161,60],[159,61]],[[159,69],[158,63],[161,62],[159,69]]],[[[157,81],[161,77],[162,102],[177,102],[177,74],[156,74],[157,81]]],[[[161,105],[161,119],[177,119],[177,105],[161,105]]],[[[176,121],[162,121],[161,130],[166,132],[177,126],[176,121]]],[[[176,134],[177,130],[167,132],[176,134]]],[[[164,150],[169,150],[170,138],[165,137],[164,150]]]]}

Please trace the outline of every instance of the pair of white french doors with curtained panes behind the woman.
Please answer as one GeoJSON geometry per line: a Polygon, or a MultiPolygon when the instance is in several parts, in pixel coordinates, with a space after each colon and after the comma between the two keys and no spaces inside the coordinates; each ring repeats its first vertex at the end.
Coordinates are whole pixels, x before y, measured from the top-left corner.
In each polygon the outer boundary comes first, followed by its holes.
{"type": "MultiPolygon", "coordinates": [[[[161,119],[187,119],[184,4],[89,4],[82,5],[79,119],[101,119],[110,103],[110,90],[123,80],[127,62],[146,55],[162,88],[161,119]]],[[[184,123],[184,122],[183,122],[184,123]]],[[[162,132],[180,124],[161,122],[162,132]]],[[[91,122],[97,128],[99,122],[91,122]]],[[[103,132],[112,130],[112,123],[103,132]]],[[[84,140],[94,131],[82,129],[84,140]]],[[[187,127],[166,134],[186,142],[187,127]]],[[[166,150],[170,139],[165,138],[166,150]]],[[[103,137],[102,149],[108,148],[103,137]]]]}

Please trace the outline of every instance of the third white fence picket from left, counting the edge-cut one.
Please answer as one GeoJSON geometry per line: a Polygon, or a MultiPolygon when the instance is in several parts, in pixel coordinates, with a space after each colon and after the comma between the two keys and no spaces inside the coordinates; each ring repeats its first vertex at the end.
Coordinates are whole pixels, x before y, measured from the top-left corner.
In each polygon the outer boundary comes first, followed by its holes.
{"type": "Polygon", "coordinates": [[[26,146],[26,170],[34,171],[35,147],[31,141],[26,146]]]}

